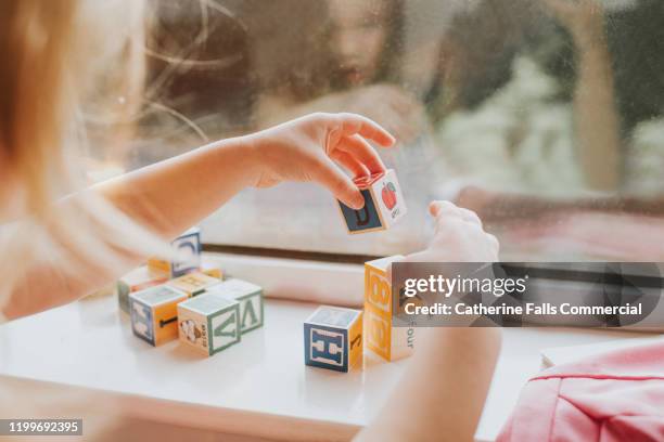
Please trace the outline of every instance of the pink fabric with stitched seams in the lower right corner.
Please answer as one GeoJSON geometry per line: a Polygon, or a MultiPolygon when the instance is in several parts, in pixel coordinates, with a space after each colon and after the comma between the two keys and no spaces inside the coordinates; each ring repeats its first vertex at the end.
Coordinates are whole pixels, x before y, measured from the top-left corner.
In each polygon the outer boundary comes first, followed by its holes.
{"type": "Polygon", "coordinates": [[[549,368],[498,441],[664,441],[664,341],[549,368]]]}

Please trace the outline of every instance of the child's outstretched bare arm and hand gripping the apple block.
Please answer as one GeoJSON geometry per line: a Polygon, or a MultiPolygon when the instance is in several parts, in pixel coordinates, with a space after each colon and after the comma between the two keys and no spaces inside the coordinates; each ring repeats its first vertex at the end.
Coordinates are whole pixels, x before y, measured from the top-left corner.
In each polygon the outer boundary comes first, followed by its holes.
{"type": "Polygon", "coordinates": [[[366,140],[394,139],[354,114],[312,114],[247,136],[222,140],[136,172],[97,190],[130,218],[170,238],[224,205],[242,188],[311,181],[350,207],[363,199],[354,176],[384,170],[366,140]]]}

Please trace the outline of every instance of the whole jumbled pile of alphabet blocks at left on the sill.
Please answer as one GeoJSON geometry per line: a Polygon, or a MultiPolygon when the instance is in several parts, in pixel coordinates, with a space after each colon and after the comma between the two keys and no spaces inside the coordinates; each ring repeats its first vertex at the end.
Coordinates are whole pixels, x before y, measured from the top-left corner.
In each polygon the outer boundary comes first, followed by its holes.
{"type": "Polygon", "coordinates": [[[131,328],[153,346],[180,337],[206,355],[234,343],[264,324],[263,289],[241,280],[221,281],[218,265],[202,263],[197,229],[173,242],[184,260],[151,258],[117,284],[131,328]]]}

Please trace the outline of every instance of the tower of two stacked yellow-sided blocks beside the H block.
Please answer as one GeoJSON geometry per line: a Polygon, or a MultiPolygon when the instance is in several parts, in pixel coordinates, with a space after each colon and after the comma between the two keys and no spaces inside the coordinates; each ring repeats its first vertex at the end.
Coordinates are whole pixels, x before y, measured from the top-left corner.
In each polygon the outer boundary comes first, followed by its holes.
{"type": "Polygon", "coordinates": [[[367,348],[387,361],[412,354],[414,328],[395,327],[392,322],[392,283],[388,265],[400,256],[376,259],[365,263],[365,336],[367,348]]]}

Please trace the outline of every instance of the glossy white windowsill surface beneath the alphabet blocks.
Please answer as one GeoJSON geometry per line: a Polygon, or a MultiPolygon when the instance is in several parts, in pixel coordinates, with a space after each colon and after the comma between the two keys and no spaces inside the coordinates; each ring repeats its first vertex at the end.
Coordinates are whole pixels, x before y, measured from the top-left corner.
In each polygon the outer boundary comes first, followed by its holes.
{"type": "MultiPolygon", "coordinates": [[[[153,348],[132,336],[114,297],[82,300],[0,327],[0,382],[93,390],[128,415],[283,440],[347,440],[385,403],[408,361],[368,355],[363,370],[306,367],[302,323],[314,304],[268,300],[266,325],[206,359],[177,341],[153,348]]],[[[505,329],[477,440],[493,440],[539,350],[641,334],[505,329]]],[[[397,406],[395,404],[395,406],[397,406]]]]}

